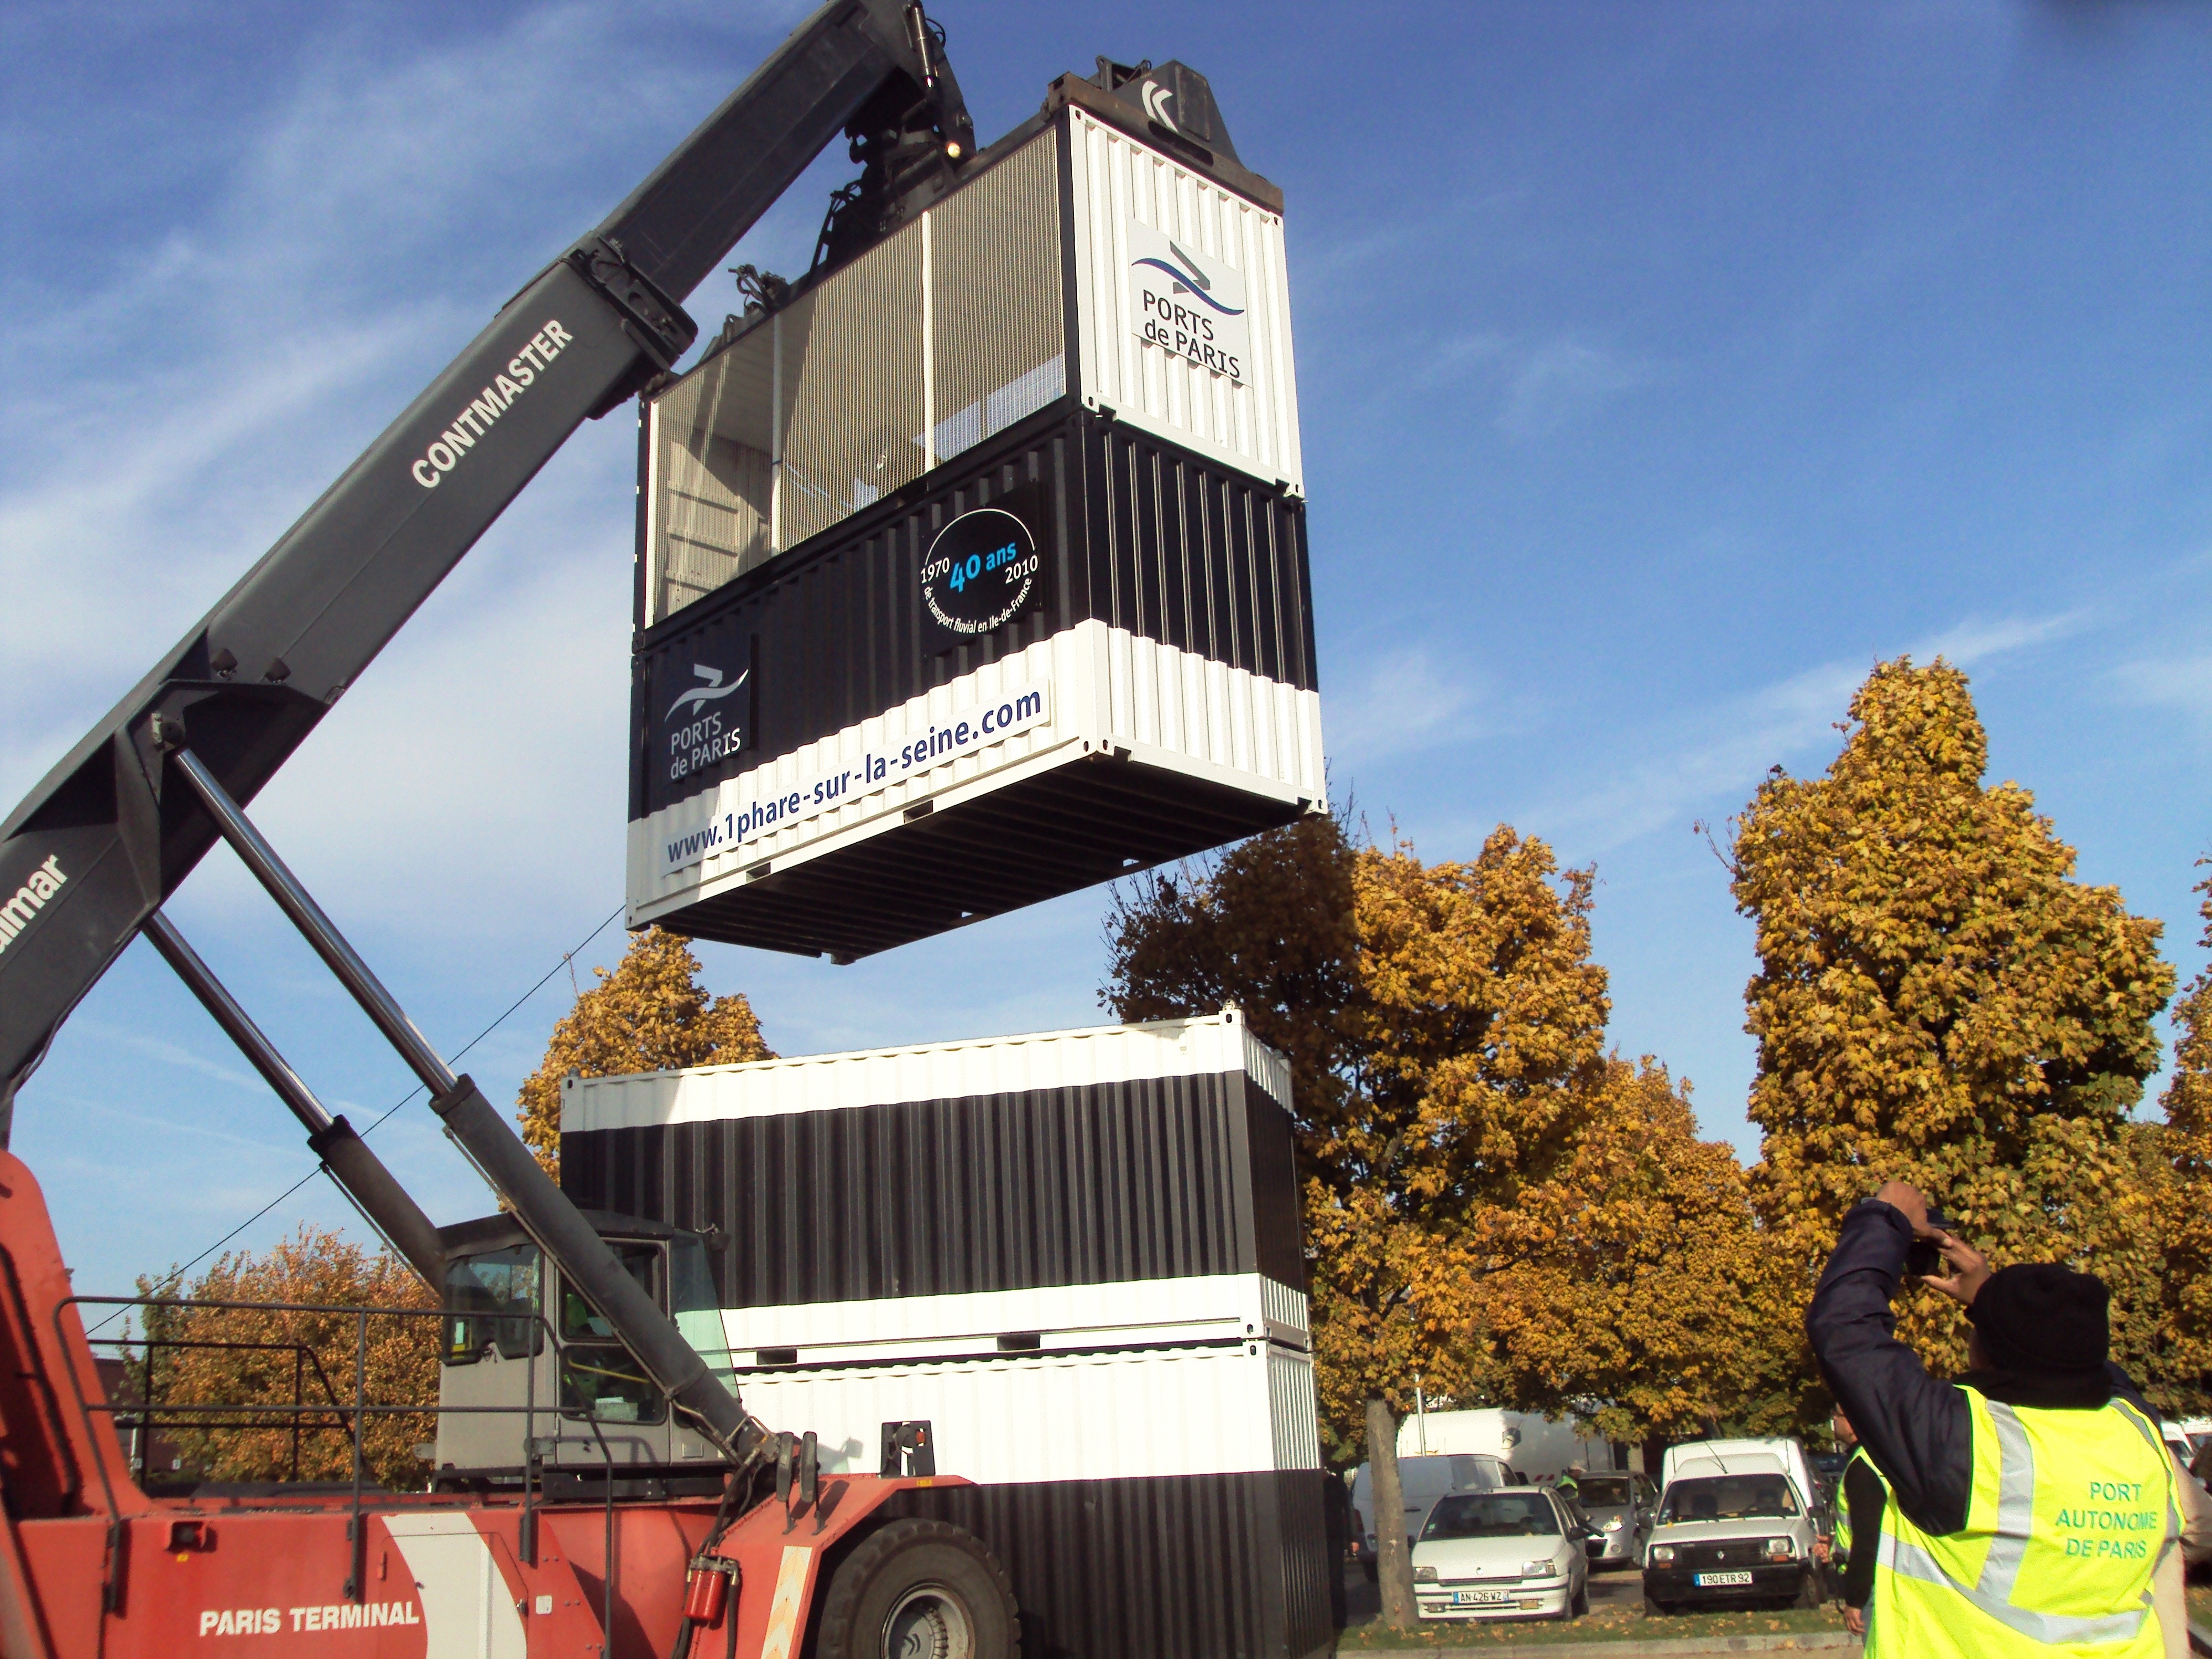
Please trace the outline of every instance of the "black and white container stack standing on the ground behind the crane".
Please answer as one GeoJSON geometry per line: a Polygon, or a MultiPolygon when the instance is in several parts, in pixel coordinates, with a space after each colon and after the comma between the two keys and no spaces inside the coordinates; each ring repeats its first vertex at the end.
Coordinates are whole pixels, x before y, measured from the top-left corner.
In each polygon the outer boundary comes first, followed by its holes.
{"type": "MultiPolygon", "coordinates": [[[[1303,1659],[1340,1624],[1290,1071],[1210,1020],[568,1079],[562,1186],[708,1239],[745,1407],[1006,1562],[1024,1646],[1303,1659]]],[[[719,1358],[719,1356],[717,1356],[719,1358]]]]}

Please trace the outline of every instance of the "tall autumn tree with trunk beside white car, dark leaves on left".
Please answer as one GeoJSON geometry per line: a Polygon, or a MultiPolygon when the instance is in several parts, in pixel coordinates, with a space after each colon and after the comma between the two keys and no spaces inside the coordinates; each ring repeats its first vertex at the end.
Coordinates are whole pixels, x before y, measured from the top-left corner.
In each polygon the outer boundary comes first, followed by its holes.
{"type": "MultiPolygon", "coordinates": [[[[1292,1060],[1323,1431],[1336,1455],[1365,1442],[1380,1513],[1398,1506],[1413,1376],[1498,1398],[1533,1374],[1535,1323],[1520,1349],[1491,1340],[1500,1294],[1557,1292],[1562,1274],[1540,1285],[1515,1272],[1588,1241],[1586,1212],[1610,1203],[1615,1166],[1637,1164],[1635,1135],[1666,1139],[1686,1121],[1624,1119],[1613,1150],[1586,1135],[1606,1102],[1652,1106],[1637,1073],[1604,1057],[1590,889],[1588,869],[1562,872],[1509,827],[1473,860],[1425,865],[1405,841],[1363,845],[1336,818],[1307,818],[1115,896],[1104,998],[1117,1018],[1237,1002],[1292,1060]]],[[[1644,1075],[1674,1099],[1663,1073],[1644,1075]]],[[[1641,1155],[1701,1168],[1688,1146],[1646,1139],[1641,1155]]],[[[1725,1199],[1721,1179],[1714,1203],[1725,1199]]],[[[1551,1365],[1553,1398],[1579,1398],[1577,1376],[1551,1365]]],[[[1385,1615],[1411,1621],[1402,1537],[1376,1531],[1385,1615]]]]}

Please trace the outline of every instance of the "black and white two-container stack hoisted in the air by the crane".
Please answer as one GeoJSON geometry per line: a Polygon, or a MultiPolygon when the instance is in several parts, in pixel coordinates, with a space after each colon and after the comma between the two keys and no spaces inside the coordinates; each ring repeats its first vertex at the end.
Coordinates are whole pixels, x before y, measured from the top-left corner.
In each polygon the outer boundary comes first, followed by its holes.
{"type": "Polygon", "coordinates": [[[1325,799],[1281,197],[1179,64],[1057,82],[639,465],[633,927],[852,958],[1325,799]]]}

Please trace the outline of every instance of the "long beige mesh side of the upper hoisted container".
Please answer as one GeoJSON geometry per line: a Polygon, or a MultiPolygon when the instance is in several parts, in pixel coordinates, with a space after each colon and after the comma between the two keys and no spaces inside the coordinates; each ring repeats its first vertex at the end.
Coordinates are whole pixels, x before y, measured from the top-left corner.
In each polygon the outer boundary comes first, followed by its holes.
{"type": "Polygon", "coordinates": [[[650,409],[646,626],[1066,396],[1060,133],[650,409]]]}

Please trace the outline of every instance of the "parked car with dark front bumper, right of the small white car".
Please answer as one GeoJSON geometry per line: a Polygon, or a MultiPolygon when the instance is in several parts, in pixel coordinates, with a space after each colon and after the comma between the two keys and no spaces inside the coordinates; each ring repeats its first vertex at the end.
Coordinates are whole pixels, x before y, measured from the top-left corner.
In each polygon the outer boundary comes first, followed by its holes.
{"type": "Polygon", "coordinates": [[[1644,1608],[1772,1601],[1816,1608],[1814,1513],[1774,1453],[1683,1460],[1644,1544],[1644,1608]]]}

